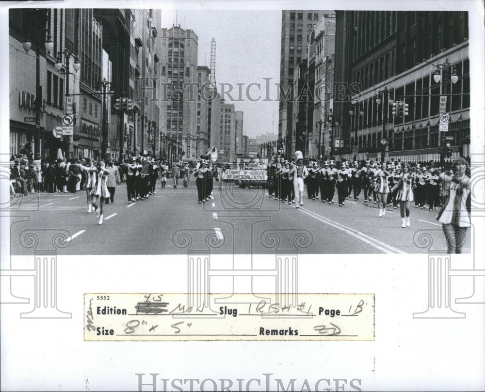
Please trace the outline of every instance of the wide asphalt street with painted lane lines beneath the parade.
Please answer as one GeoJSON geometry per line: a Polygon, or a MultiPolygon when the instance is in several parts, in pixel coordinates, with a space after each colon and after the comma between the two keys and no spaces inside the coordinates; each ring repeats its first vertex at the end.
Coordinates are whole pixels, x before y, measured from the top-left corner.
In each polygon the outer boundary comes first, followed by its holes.
{"type": "MultiPolygon", "coordinates": [[[[200,205],[194,182],[177,189],[168,184],[161,188],[158,182],[155,195],[132,204],[122,184],[116,188],[115,203],[105,205],[102,225],[95,212],[87,213],[85,191],[26,196],[20,210],[32,212],[12,213],[28,215],[29,220],[12,224],[11,253],[32,254],[19,239],[29,229],[66,230],[69,246],[59,249],[59,254],[357,254],[445,249],[435,211],[413,205],[411,227],[403,229],[399,209],[388,207],[379,218],[373,202],[365,205],[362,198],[339,207],[305,196],[305,205],[295,209],[269,198],[266,189],[246,190],[225,183],[218,190],[218,184],[214,182],[214,199],[200,205]]],[[[464,252],[470,251],[469,232],[467,237],[464,252]]]]}

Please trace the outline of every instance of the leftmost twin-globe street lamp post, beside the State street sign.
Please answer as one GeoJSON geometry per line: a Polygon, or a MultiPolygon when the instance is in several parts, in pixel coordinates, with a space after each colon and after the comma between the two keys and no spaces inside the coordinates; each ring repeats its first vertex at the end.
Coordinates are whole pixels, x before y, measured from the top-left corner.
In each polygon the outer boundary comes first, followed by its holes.
{"type": "MultiPolygon", "coordinates": [[[[40,42],[41,37],[44,36],[48,29],[42,29],[41,31],[35,31],[33,28],[29,28],[29,35],[34,36],[35,42],[35,130],[34,130],[34,157],[40,155],[40,109],[42,105],[42,88],[40,86],[40,42]]],[[[25,41],[22,43],[22,47],[25,53],[28,53],[32,47],[32,41],[29,37],[26,37],[25,41]]],[[[44,48],[46,52],[50,53],[54,49],[54,43],[52,42],[52,37],[50,34],[47,36],[44,42],[44,48]]],[[[29,135],[29,141],[32,141],[32,135],[29,135]]]]}

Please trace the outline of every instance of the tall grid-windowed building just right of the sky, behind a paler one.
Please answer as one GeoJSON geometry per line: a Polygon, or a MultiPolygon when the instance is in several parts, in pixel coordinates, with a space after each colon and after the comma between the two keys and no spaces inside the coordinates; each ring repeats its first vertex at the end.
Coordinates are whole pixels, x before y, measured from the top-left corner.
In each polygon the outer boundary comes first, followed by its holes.
{"type": "MultiPolygon", "coordinates": [[[[307,45],[311,31],[322,17],[334,15],[334,11],[283,10],[281,18],[280,88],[286,93],[294,82],[295,68],[307,58],[307,45]]],[[[281,96],[279,103],[278,138],[287,138],[287,151],[296,141],[292,127],[292,103],[281,96]]],[[[294,147],[293,147],[294,149],[294,147]]]]}

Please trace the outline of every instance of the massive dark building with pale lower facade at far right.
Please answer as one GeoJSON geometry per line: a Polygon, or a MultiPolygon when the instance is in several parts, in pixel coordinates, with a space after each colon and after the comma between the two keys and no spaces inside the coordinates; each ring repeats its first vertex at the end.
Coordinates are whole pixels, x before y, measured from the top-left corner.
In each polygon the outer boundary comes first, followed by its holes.
{"type": "Polygon", "coordinates": [[[440,135],[445,133],[439,132],[439,114],[444,111],[450,119],[446,142],[453,157],[468,156],[468,37],[466,12],[339,11],[335,82],[354,83],[360,94],[354,94],[354,102],[334,103],[343,141],[336,154],[357,159],[385,154],[396,160],[439,160],[444,143],[440,135]],[[376,99],[379,95],[380,100],[376,99]],[[440,96],[446,101],[443,107],[440,96]],[[409,114],[393,116],[392,100],[408,104],[409,114]],[[358,148],[357,153],[352,146],[358,148]]]}

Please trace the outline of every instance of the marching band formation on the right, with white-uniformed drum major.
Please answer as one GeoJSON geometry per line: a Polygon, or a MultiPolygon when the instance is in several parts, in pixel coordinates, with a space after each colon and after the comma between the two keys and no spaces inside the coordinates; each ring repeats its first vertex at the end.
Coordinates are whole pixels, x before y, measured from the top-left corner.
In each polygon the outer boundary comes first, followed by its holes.
{"type": "Polygon", "coordinates": [[[303,205],[303,189],[306,184],[307,197],[324,204],[333,204],[335,189],[340,207],[353,195],[354,202],[364,193],[364,205],[373,201],[379,209],[378,217],[385,217],[389,208],[400,208],[402,226],[410,227],[410,203],[423,209],[437,210],[440,204],[441,183],[438,170],[420,164],[411,166],[401,162],[373,162],[365,160],[352,164],[341,161],[339,168],[334,160],[303,163],[303,155],[295,152],[295,161],[275,155],[267,166],[268,196],[282,203],[303,205]],[[292,186],[291,186],[292,183],[292,186]]]}

